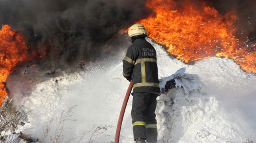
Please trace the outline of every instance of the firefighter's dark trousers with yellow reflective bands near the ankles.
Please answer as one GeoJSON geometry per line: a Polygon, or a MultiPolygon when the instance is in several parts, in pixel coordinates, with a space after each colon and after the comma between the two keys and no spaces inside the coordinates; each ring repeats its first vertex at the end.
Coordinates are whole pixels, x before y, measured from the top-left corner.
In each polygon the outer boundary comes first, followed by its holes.
{"type": "Polygon", "coordinates": [[[131,116],[133,119],[133,136],[144,138],[149,143],[157,141],[157,121],[155,119],[155,108],[157,106],[157,94],[133,93],[133,108],[131,116]]]}

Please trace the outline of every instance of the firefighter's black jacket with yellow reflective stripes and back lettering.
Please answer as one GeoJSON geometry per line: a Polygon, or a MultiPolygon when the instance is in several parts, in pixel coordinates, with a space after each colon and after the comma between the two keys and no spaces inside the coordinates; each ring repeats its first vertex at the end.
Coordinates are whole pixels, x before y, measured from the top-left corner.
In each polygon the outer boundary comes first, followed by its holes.
{"type": "Polygon", "coordinates": [[[133,80],[133,93],[148,92],[160,95],[157,54],[144,38],[136,38],[123,59],[123,76],[133,80]]]}

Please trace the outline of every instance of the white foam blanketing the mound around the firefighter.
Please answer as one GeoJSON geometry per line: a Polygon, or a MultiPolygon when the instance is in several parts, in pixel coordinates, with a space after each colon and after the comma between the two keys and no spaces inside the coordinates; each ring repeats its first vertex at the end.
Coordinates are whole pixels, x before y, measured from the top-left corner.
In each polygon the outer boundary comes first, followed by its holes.
{"type": "MultiPolygon", "coordinates": [[[[241,107],[241,103],[237,102],[239,98],[243,98],[250,102],[250,108],[255,108],[256,99],[251,98],[256,91],[256,87],[251,85],[256,83],[253,74],[243,72],[230,59],[217,57],[197,61],[193,65],[184,64],[170,58],[162,46],[152,44],[157,50],[159,78],[168,77],[180,68],[186,68],[186,73],[194,74],[183,74],[183,78],[187,79],[185,81],[176,80],[185,90],[179,88],[159,97],[159,141],[163,139],[162,135],[169,135],[175,143],[241,142],[250,134],[252,139],[256,139],[256,124],[253,122],[256,113],[247,110],[248,106],[241,107]],[[231,91],[232,95],[226,94],[231,91]],[[164,101],[171,100],[170,97],[173,98],[174,105],[164,105],[164,101]],[[229,104],[228,99],[234,102],[229,104]],[[237,112],[240,114],[236,114],[237,112]],[[243,115],[247,114],[250,116],[245,118],[243,115]]],[[[124,52],[117,56],[122,59],[124,52]]],[[[29,129],[33,137],[40,138],[42,127],[51,118],[58,117],[64,109],[78,105],[73,113],[77,122],[66,124],[71,129],[65,135],[72,133],[79,136],[93,125],[108,124],[114,126],[106,132],[110,136],[97,136],[95,140],[100,143],[114,141],[114,132],[128,84],[122,77],[121,60],[118,64],[108,63],[108,66],[92,64],[86,67],[85,72],[78,71],[36,84],[25,104],[27,110],[32,110],[29,123],[21,130],[29,129]],[[58,83],[55,82],[56,79],[58,83]]],[[[123,120],[120,143],[133,143],[131,101],[132,96],[123,120]]]]}

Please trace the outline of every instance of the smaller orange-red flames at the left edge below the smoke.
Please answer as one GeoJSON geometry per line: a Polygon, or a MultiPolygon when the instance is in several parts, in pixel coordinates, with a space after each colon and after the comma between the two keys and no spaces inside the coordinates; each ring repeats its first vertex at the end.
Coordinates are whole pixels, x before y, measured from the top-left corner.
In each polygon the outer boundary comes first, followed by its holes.
{"type": "Polygon", "coordinates": [[[8,25],[0,30],[0,105],[7,96],[6,80],[19,62],[29,61],[24,37],[8,25]]]}

